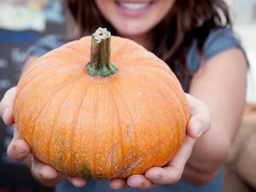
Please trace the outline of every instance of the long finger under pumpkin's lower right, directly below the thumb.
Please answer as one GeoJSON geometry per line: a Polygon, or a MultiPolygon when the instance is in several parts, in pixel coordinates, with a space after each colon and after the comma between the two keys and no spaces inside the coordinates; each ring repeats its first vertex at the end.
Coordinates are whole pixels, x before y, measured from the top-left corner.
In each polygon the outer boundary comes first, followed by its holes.
{"type": "Polygon", "coordinates": [[[145,172],[145,177],[152,183],[164,185],[177,183],[183,173],[186,161],[189,159],[195,139],[186,136],[180,151],[166,164],[165,167],[152,167],[145,172]]]}

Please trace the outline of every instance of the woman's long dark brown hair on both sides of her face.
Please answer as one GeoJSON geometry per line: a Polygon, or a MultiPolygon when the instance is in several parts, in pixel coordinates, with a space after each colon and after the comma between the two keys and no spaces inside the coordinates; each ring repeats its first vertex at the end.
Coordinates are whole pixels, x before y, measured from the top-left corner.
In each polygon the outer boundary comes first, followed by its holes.
{"type": "MultiPolygon", "coordinates": [[[[94,0],[67,0],[67,6],[76,24],[76,38],[91,35],[96,29],[106,27],[112,35],[116,31],[101,15],[94,0]]],[[[203,46],[211,29],[232,28],[224,0],[176,0],[168,15],[151,30],[153,49],[150,50],[176,72],[180,82],[189,86],[190,72],[186,55],[192,41],[204,58],[203,46]]]]}

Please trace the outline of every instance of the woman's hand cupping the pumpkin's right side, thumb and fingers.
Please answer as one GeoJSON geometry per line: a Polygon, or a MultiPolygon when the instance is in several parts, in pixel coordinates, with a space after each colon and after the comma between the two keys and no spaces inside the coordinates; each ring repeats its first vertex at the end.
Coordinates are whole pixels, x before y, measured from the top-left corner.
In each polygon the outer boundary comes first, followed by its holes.
{"type": "Polygon", "coordinates": [[[186,139],[180,151],[163,168],[152,167],[144,175],[131,175],[127,180],[112,179],[109,184],[112,189],[125,189],[129,186],[136,189],[151,189],[158,185],[175,184],[180,180],[196,138],[206,133],[211,127],[211,117],[207,106],[189,94],[186,94],[186,97],[191,117],[186,129],[186,139]]]}

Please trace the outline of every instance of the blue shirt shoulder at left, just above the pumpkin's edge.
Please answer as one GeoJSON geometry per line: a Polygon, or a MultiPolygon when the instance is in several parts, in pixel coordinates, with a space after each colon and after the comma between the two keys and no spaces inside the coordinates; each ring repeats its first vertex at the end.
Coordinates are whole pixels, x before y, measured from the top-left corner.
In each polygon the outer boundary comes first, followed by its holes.
{"type": "Polygon", "coordinates": [[[27,55],[37,55],[41,57],[45,53],[57,49],[65,43],[67,43],[67,40],[63,35],[47,35],[38,39],[34,45],[29,47],[27,55]]]}

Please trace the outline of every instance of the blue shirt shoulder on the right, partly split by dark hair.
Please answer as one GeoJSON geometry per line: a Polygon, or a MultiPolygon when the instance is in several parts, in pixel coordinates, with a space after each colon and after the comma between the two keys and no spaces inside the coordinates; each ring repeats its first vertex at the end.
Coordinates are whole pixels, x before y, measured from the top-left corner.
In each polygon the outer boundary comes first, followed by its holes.
{"type": "MultiPolygon", "coordinates": [[[[241,42],[236,38],[231,29],[212,29],[204,42],[204,59],[208,61],[213,56],[234,47],[238,47],[244,51],[241,42]]],[[[200,55],[197,50],[196,40],[193,41],[192,47],[189,49],[186,62],[191,73],[195,73],[200,67],[200,55]]]]}

